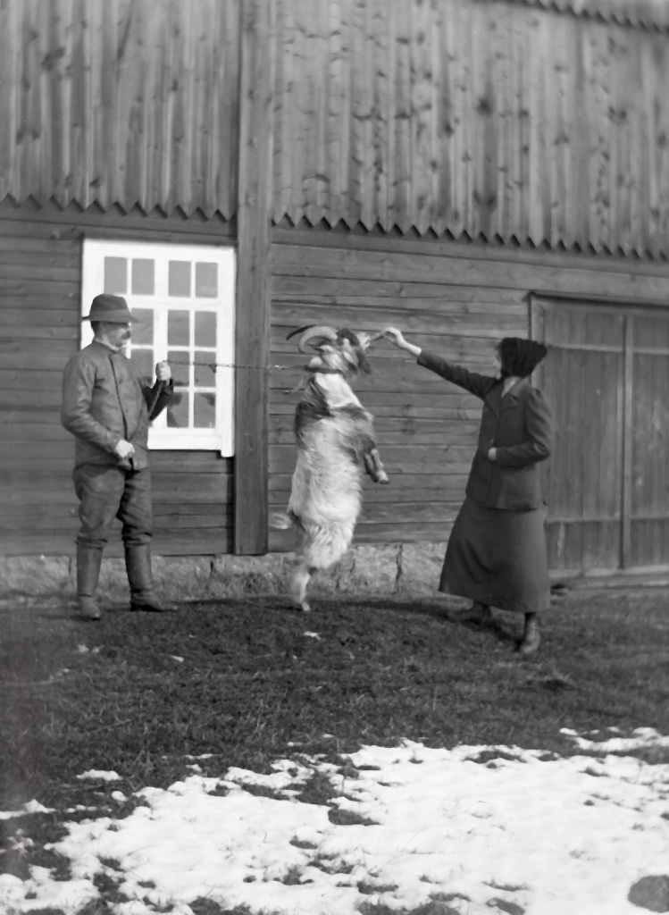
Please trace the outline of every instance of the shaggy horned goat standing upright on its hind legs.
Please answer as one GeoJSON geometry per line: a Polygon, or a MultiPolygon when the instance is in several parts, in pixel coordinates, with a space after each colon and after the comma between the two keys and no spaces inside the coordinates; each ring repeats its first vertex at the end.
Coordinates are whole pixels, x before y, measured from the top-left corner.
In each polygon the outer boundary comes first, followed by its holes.
{"type": "Polygon", "coordinates": [[[388,476],[374,440],[372,414],[351,388],[359,372],[370,371],[365,350],[382,335],[327,327],[301,331],[299,350],[308,352],[309,345],[317,355],[308,363],[295,411],[297,464],[287,516],[276,526],[292,522],[301,535],[291,594],[307,611],[311,576],[334,565],[351,546],[362,505],[362,473],[376,483],[387,483],[388,476]]]}

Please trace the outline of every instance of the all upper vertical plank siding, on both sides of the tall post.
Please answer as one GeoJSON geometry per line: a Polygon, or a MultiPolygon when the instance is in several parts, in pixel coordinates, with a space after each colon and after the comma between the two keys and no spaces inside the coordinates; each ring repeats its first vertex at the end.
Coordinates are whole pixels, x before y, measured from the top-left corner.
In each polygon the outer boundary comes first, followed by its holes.
{"type": "MultiPolygon", "coordinates": [[[[275,224],[669,254],[669,21],[608,4],[277,0],[275,224]]],[[[5,0],[0,199],[231,219],[240,15],[5,0]]]]}

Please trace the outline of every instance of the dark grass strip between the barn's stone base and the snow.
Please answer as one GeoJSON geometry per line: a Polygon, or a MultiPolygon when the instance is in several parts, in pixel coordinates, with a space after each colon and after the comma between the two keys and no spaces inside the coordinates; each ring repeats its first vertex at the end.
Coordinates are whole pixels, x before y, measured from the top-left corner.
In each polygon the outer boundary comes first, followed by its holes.
{"type": "MultiPolygon", "coordinates": [[[[562,727],[669,734],[663,591],[567,597],[526,660],[513,652],[520,620],[508,614],[477,630],[449,621],[437,597],[316,605],[305,616],[281,598],[250,597],[163,616],[115,608],[86,623],[64,598],[5,599],[0,811],[37,799],[56,813],[0,821],[0,872],[21,876],[38,863],[38,847],[59,836],[60,812],[118,817],[113,791],[167,787],[194,764],[221,776],[322,754],[345,775],[346,754],[361,744],[404,738],[485,745],[479,761],[494,765],[505,751],[491,745],[576,752],[562,727]],[[121,781],[78,778],[88,770],[121,781]],[[85,809],[72,813],[77,804],[85,809]]],[[[304,785],[302,799],[327,801],[327,781],[304,785]]]]}

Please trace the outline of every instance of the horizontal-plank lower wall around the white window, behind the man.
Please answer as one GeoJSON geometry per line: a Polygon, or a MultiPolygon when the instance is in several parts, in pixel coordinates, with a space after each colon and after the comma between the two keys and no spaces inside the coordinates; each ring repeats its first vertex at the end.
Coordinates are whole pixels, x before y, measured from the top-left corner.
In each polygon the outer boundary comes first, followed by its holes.
{"type": "MultiPolygon", "coordinates": [[[[61,376],[80,339],[81,239],[221,242],[222,221],[0,205],[0,554],[69,554],[78,529],[74,440],[61,376]]],[[[159,554],[232,550],[232,459],[154,451],[159,554]]],[[[120,554],[114,537],[109,554],[120,554]]]]}

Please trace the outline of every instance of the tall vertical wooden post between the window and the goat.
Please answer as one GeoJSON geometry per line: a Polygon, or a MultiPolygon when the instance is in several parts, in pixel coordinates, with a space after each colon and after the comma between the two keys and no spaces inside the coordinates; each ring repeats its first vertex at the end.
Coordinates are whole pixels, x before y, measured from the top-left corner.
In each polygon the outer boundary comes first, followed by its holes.
{"type": "Polygon", "coordinates": [[[275,0],[241,0],[234,552],[267,552],[275,0]]]}

